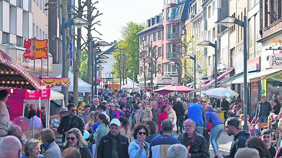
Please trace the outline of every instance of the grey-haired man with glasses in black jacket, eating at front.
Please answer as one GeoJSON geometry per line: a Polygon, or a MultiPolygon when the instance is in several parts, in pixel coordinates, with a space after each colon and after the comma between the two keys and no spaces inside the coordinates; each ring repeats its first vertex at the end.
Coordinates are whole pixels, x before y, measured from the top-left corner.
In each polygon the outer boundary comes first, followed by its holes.
{"type": "Polygon", "coordinates": [[[204,136],[195,131],[196,123],[192,119],[184,122],[185,133],[181,134],[178,139],[186,148],[190,146],[187,158],[200,157],[208,158],[208,142],[204,136]]]}

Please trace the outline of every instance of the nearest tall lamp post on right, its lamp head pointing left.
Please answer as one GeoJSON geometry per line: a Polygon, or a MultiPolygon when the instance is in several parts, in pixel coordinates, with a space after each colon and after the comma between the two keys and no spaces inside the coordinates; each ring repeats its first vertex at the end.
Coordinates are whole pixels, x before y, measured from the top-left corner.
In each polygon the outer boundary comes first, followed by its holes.
{"type": "MultiPolygon", "coordinates": [[[[238,20],[235,17],[232,16],[228,16],[225,19],[220,20],[219,22],[217,22],[217,24],[219,25],[223,25],[223,26],[227,26],[227,27],[231,27],[235,24],[243,27],[244,29],[244,71],[243,71],[243,75],[244,75],[244,118],[247,118],[247,16],[244,16],[243,18],[244,20],[238,20]]],[[[244,126],[243,129],[248,131],[248,126],[247,126],[247,119],[244,119],[244,126]]]]}

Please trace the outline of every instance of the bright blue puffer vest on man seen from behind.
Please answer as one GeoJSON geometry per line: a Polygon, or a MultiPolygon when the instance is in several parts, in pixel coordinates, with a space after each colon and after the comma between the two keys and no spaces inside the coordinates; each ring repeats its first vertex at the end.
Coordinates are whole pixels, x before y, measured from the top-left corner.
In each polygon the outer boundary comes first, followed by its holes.
{"type": "Polygon", "coordinates": [[[196,125],[204,127],[203,107],[200,104],[193,103],[188,107],[188,118],[195,121],[196,125]]]}

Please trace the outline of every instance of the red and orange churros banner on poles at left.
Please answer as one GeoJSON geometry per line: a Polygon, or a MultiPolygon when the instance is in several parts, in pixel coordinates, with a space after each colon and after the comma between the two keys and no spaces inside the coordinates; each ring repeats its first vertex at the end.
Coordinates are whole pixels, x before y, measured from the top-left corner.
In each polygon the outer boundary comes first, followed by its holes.
{"type": "Polygon", "coordinates": [[[34,59],[34,45],[35,45],[35,59],[47,59],[48,57],[48,39],[39,40],[35,38],[25,39],[24,47],[26,52],[24,53],[25,59],[34,59]]]}

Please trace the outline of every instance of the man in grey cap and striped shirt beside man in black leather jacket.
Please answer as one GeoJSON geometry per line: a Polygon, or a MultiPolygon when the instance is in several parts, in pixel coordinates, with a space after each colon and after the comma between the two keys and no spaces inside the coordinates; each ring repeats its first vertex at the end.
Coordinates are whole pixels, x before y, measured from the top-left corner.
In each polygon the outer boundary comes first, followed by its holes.
{"type": "Polygon", "coordinates": [[[58,129],[60,123],[61,123],[62,117],[63,117],[63,116],[66,116],[67,113],[68,113],[68,112],[67,112],[67,108],[66,108],[66,107],[62,107],[62,108],[60,109],[60,113],[59,113],[60,118],[54,119],[54,120],[51,122],[50,126],[49,126],[49,128],[50,128],[51,130],[53,130],[54,133],[55,133],[55,136],[56,136],[55,143],[60,147],[61,151],[62,151],[62,149],[63,149],[63,144],[62,144],[62,137],[63,137],[63,135],[59,134],[59,133],[57,132],[57,129],[58,129]]]}

